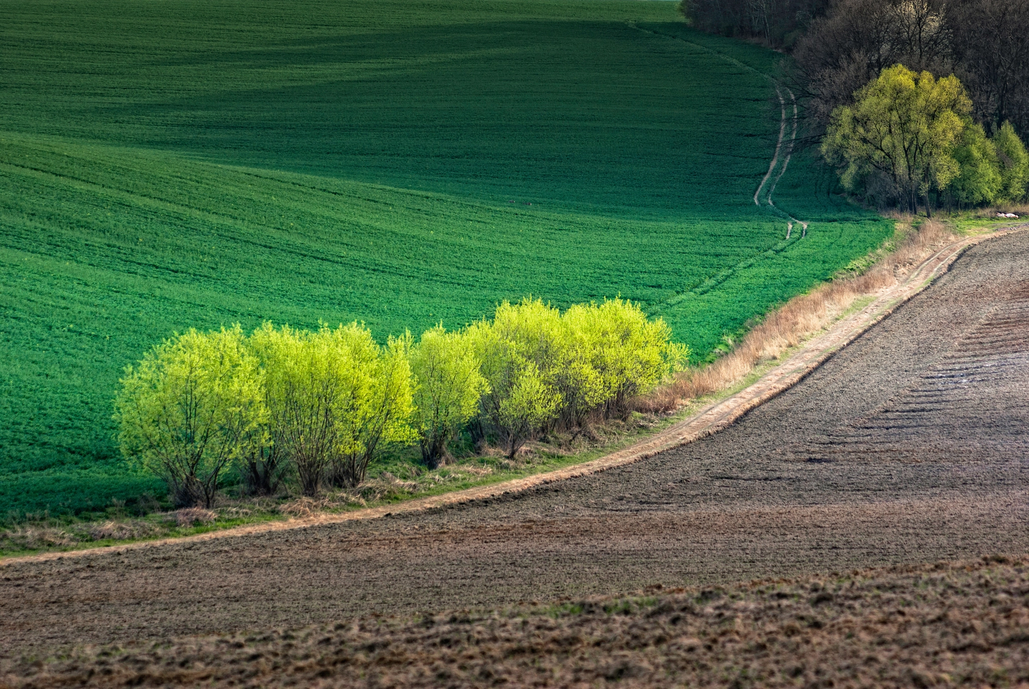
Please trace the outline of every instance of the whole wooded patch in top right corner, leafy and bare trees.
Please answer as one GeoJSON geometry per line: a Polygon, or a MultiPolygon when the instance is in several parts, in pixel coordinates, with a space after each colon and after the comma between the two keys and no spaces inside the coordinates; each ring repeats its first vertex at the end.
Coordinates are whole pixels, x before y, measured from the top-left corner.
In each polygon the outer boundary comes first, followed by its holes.
{"type": "Polygon", "coordinates": [[[682,7],[697,28],[790,49],[780,78],[803,105],[803,138],[852,195],[930,214],[1025,199],[1029,0],[682,7]]]}

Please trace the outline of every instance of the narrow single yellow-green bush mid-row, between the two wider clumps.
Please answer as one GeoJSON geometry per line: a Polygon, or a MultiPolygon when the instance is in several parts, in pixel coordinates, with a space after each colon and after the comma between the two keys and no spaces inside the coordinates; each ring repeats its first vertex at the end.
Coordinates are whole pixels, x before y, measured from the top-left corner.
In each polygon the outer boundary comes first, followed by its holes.
{"type": "Polygon", "coordinates": [[[422,461],[430,469],[447,455],[447,442],[478,411],[487,391],[480,361],[463,333],[436,325],[422,333],[409,360],[415,376],[414,426],[422,461]]]}

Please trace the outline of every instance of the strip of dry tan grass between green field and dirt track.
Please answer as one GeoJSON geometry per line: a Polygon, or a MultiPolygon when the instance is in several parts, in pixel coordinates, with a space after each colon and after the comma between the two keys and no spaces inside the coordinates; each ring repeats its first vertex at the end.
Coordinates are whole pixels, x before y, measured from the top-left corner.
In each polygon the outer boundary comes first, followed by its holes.
{"type": "MultiPolygon", "coordinates": [[[[902,218],[898,218],[901,222],[902,218]]],[[[776,359],[828,325],[862,297],[891,287],[941,247],[957,239],[941,222],[928,220],[910,231],[893,250],[883,251],[859,275],[841,275],[771,312],[728,354],[685,371],[675,382],[634,401],[638,411],[667,412],[689,400],[732,387],[755,366],[776,359]]]]}

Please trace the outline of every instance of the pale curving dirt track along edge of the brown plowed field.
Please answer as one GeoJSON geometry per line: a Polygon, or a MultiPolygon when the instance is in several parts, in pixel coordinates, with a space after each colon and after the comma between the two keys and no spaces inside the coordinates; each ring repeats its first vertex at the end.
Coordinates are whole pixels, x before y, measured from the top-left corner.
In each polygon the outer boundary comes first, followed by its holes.
{"type": "Polygon", "coordinates": [[[0,566],[12,562],[51,560],[88,554],[121,552],[139,548],[154,548],[170,543],[210,541],[213,539],[307,528],[309,526],[341,523],[356,519],[376,519],[404,512],[422,512],[448,505],[458,505],[512,492],[521,492],[555,481],[564,481],[578,476],[596,474],[641,461],[660,452],[665,452],[706,438],[732,425],[747,412],[785,392],[807,378],[832,355],[859,338],[873,325],[890,315],[898,306],[932,284],[936,278],[946,273],[954,262],[970,247],[985,240],[996,239],[1026,229],[1029,229],[1029,225],[1004,228],[994,232],[966,237],[961,241],[944,247],[922,262],[902,282],[880,290],[878,296],[864,308],[841,318],[824,333],[802,344],[784,361],[776,365],[750,386],[729,398],[699,409],[691,416],[644,441],[598,459],[552,472],[512,479],[502,483],[465,488],[441,495],[410,499],[396,505],[365,508],[342,514],[321,514],[286,521],[262,522],[226,528],[219,531],[208,531],[196,536],[0,558],[0,566]]]}

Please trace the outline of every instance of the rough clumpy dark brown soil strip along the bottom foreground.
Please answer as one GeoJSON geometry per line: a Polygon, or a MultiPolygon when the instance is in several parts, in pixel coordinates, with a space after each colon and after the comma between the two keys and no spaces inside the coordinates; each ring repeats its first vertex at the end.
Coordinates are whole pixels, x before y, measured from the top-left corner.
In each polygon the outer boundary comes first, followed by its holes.
{"type": "Polygon", "coordinates": [[[793,581],[91,647],[0,687],[1029,687],[1029,563],[793,581]]]}

